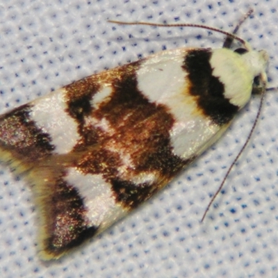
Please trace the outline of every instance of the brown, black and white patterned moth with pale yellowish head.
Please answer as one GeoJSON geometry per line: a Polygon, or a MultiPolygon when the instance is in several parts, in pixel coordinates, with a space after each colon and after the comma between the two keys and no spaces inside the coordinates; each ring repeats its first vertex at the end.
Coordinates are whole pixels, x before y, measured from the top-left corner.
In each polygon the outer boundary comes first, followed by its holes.
{"type": "Polygon", "coordinates": [[[252,92],[265,91],[266,52],[225,34],[223,48],[162,51],[1,115],[1,161],[31,184],[42,259],[152,197],[222,136],[252,92]],[[229,49],[232,39],[243,47],[229,49]]]}

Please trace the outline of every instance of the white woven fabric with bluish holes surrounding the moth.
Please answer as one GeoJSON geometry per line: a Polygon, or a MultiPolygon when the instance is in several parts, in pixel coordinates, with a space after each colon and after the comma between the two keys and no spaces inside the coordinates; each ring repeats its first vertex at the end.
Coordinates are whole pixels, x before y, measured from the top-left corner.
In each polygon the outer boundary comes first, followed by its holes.
{"type": "MultiPolygon", "coordinates": [[[[270,54],[278,85],[277,0],[1,0],[0,111],[95,72],[175,47],[221,47],[218,33],[115,26],[106,19],[203,23],[270,54]]],[[[58,261],[36,253],[37,211],[26,182],[0,169],[1,277],[278,277],[278,91],[269,92],[252,142],[200,224],[209,196],[245,142],[254,97],[213,148],[163,192],[58,261]]]]}

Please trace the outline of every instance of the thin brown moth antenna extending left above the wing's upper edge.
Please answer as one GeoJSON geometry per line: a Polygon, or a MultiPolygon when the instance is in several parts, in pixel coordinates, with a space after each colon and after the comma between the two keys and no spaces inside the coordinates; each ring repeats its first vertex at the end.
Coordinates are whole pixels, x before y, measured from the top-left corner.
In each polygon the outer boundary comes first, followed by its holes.
{"type": "MultiPolygon", "coordinates": [[[[247,13],[247,15],[250,15],[251,13],[252,12],[250,10],[247,13]]],[[[247,15],[245,15],[245,17],[247,17],[247,15]]],[[[244,20],[241,20],[241,21],[244,21],[244,20]]],[[[115,24],[124,24],[124,25],[148,25],[148,26],[156,26],[156,27],[193,27],[193,28],[203,28],[203,29],[206,29],[206,30],[209,30],[209,31],[215,31],[215,32],[218,32],[218,33],[222,33],[222,34],[226,35],[227,38],[229,37],[229,38],[231,38],[231,40],[237,40],[238,42],[242,43],[248,51],[252,50],[252,47],[250,47],[250,45],[245,40],[243,40],[242,38],[238,37],[234,33],[229,33],[227,31],[223,31],[223,30],[221,30],[219,28],[215,28],[215,27],[211,27],[211,26],[206,26],[206,25],[202,25],[202,24],[191,24],[191,23],[159,24],[159,23],[152,23],[152,22],[121,22],[121,21],[117,21],[117,20],[108,20],[108,22],[115,23],[115,24]]],[[[240,25],[241,25],[241,23],[240,23],[240,25]]]]}

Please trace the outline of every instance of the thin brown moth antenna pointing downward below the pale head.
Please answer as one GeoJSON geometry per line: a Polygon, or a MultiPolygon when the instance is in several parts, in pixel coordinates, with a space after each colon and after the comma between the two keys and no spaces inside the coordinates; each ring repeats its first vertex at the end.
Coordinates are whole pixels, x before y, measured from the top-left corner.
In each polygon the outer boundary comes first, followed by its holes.
{"type": "Polygon", "coordinates": [[[236,156],[236,158],[234,158],[234,161],[233,163],[231,163],[229,169],[227,170],[226,174],[224,175],[224,178],[222,180],[222,183],[220,184],[218,190],[214,193],[213,197],[211,198],[211,201],[208,203],[208,206],[206,206],[206,211],[204,211],[204,214],[203,214],[203,217],[202,217],[202,220],[201,222],[204,221],[204,218],[206,217],[206,213],[208,213],[208,210],[209,208],[211,207],[211,205],[213,204],[215,198],[218,196],[218,194],[220,193],[221,189],[223,188],[224,186],[224,183],[225,181],[227,180],[227,177],[229,176],[232,168],[234,167],[234,165],[236,164],[236,161],[238,161],[238,158],[240,157],[240,155],[243,153],[243,151],[245,150],[245,148],[247,147],[251,137],[252,137],[252,134],[254,133],[254,129],[256,127],[256,124],[258,123],[258,120],[259,120],[259,117],[261,115],[261,108],[263,107],[263,100],[265,98],[265,92],[267,90],[274,90],[275,88],[269,88],[269,89],[265,89],[265,85],[266,85],[266,82],[264,82],[264,89],[263,91],[261,92],[261,101],[260,101],[260,104],[259,104],[259,109],[258,109],[258,112],[256,113],[256,118],[254,120],[254,124],[252,125],[252,129],[250,130],[250,133],[248,134],[247,136],[247,139],[243,145],[243,147],[241,147],[240,151],[238,152],[238,155],[236,156]]]}

